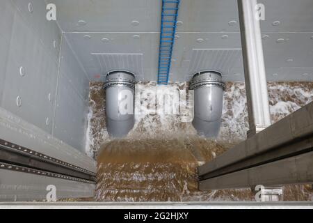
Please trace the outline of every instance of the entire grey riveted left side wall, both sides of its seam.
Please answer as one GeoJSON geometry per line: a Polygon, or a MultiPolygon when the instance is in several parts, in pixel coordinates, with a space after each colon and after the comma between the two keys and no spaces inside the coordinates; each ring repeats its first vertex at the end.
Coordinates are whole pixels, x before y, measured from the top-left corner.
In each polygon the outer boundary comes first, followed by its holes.
{"type": "Polygon", "coordinates": [[[46,6],[0,1],[0,106],[83,151],[89,79],[46,6]]]}

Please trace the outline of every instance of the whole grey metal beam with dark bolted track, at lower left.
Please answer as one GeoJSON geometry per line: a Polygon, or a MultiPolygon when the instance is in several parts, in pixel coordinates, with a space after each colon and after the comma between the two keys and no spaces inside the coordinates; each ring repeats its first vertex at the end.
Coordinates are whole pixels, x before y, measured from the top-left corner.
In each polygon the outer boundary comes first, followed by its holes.
{"type": "Polygon", "coordinates": [[[0,201],[94,196],[95,160],[1,107],[0,139],[0,201]]]}

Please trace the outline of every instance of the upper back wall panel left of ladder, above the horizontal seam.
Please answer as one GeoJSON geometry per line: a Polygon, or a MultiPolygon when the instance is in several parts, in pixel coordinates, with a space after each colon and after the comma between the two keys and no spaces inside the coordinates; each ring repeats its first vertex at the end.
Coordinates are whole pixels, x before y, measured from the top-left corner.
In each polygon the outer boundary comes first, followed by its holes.
{"type": "MultiPolygon", "coordinates": [[[[188,0],[189,1],[189,0],[188,0]]],[[[204,0],[206,1],[206,0],[204,0]]],[[[56,3],[65,32],[156,32],[161,24],[159,0],[47,0],[56,3]],[[87,23],[81,23],[84,20],[87,23]]]]}

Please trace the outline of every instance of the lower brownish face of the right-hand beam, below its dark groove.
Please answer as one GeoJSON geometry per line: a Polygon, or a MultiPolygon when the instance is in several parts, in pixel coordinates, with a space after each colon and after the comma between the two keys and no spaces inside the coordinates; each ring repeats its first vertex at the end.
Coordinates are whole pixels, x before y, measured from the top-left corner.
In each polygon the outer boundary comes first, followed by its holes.
{"type": "Polygon", "coordinates": [[[200,190],[313,182],[313,152],[200,181],[200,190]]]}

